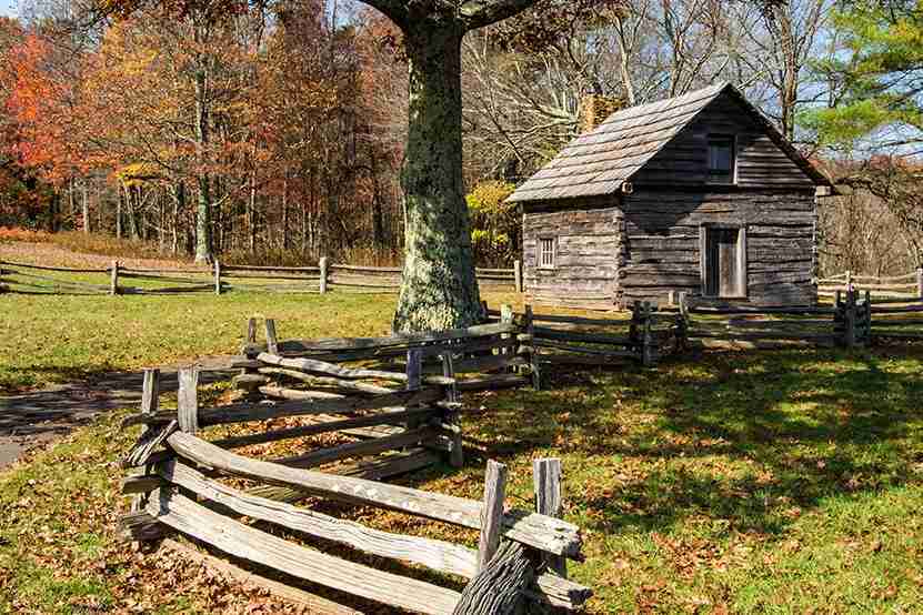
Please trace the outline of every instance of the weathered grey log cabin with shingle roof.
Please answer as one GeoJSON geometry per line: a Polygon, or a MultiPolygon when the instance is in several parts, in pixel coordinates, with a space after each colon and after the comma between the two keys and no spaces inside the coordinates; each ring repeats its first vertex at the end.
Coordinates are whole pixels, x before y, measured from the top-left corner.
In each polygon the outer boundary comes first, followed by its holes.
{"type": "Polygon", "coordinates": [[[509,201],[534,303],[816,303],[830,180],[733,85],[616,111],[509,201]]]}

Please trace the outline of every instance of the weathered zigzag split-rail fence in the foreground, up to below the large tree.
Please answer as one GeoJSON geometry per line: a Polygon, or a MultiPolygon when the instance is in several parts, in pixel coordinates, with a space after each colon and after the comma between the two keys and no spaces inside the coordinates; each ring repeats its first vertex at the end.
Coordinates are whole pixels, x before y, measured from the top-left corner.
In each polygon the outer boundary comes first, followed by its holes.
{"type": "MultiPolygon", "coordinates": [[[[457,374],[523,367],[512,352],[516,325],[408,337],[279,341],[275,323],[268,321],[264,344],[257,343],[255,329],[248,323],[248,344],[235,363],[241,400],[233,404],[203,406],[198,374],[189,369],[180,371],[177,410],[160,410],[159,375],[146,374],[141,412],[124,422],[143,425],[123,461],[140,470],[122,485],[134,497],[132,512],[122,517],[130,540],[180,533],[314,585],[418,613],[493,613],[472,608],[490,602],[472,595],[483,591],[485,578],[509,574],[505,563],[515,553],[523,561],[553,562],[522,588],[525,599],[541,608],[575,609],[590,597],[588,587],[566,578],[564,563],[582,558],[582,542],[580,530],[559,518],[560,463],[535,464],[536,511],[504,510],[506,470],[493,462],[482,502],[383,482],[440,460],[463,464],[460,395],[488,384],[483,376],[457,374]],[[294,455],[267,452],[293,440],[303,441],[294,455]],[[258,454],[269,458],[255,458],[258,454]],[[241,478],[252,486],[241,487],[241,478]],[[299,505],[308,498],[310,505],[299,505]],[[377,530],[321,513],[325,501],[339,503],[338,511],[374,507],[468,528],[480,534],[480,545],[474,550],[377,530]],[[269,533],[263,524],[282,533],[269,533]],[[423,581],[409,567],[383,572],[352,561],[342,550],[331,553],[324,546],[331,544],[422,566],[447,583],[423,581]],[[465,591],[452,588],[450,578],[469,579],[465,591]]],[[[514,578],[505,581],[502,585],[518,586],[514,578]]],[[[315,603],[318,612],[345,612],[327,598],[315,597],[315,603]]]]}

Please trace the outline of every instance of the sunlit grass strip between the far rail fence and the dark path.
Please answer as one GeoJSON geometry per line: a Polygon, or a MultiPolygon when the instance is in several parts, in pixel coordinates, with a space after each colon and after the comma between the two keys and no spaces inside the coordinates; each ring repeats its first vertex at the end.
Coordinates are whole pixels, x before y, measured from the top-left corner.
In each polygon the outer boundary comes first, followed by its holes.
{"type": "Polygon", "coordinates": [[[233,354],[247,320],[275,317],[283,337],[385,334],[394,298],[237,293],[0,298],[0,392],[118,370],[233,354]]]}

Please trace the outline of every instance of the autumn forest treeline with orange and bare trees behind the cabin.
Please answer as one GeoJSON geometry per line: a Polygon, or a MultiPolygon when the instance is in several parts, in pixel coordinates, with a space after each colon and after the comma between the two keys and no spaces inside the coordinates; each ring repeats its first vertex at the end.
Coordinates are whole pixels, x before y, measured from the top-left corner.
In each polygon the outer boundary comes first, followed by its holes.
{"type": "MultiPolygon", "coordinates": [[[[883,84],[923,53],[916,2],[545,3],[463,41],[479,264],[515,258],[503,200],[581,130],[588,97],[635,104],[718,80],[842,180],[821,210],[823,269],[921,264],[919,139],[881,132],[923,125],[912,92],[883,84]],[[906,39],[882,34],[895,20],[906,39]],[[891,46],[877,72],[870,37],[891,46]]],[[[393,24],[347,0],[170,4],[32,0],[0,20],[0,225],[205,261],[400,260],[408,67],[393,24]]]]}

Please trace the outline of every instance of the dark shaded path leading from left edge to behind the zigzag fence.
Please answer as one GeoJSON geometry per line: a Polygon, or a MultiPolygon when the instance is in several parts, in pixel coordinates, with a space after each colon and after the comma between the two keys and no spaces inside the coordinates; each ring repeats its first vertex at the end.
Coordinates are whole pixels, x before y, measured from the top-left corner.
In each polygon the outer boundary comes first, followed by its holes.
{"type": "MultiPolygon", "coordinates": [[[[230,356],[197,361],[200,382],[231,375],[230,356]]],[[[103,412],[141,402],[141,372],[103,374],[88,382],[52,386],[21,395],[0,396],[0,468],[23,453],[86,425],[103,412]]],[[[177,390],[175,365],[161,367],[162,392],[177,390]]]]}

